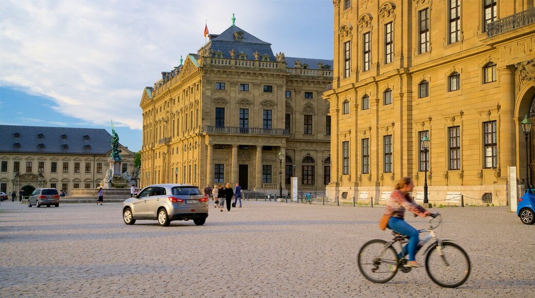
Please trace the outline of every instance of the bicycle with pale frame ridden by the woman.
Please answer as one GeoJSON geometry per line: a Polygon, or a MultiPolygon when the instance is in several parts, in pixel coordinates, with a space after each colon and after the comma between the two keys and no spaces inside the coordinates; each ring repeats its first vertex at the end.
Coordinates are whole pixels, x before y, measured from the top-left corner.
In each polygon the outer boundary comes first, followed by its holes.
{"type": "MultiPolygon", "coordinates": [[[[446,288],[456,288],[468,279],[470,275],[470,258],[464,249],[452,240],[438,239],[434,229],[442,222],[438,213],[433,213],[429,219],[429,229],[418,230],[419,233],[429,233],[418,243],[417,253],[427,241],[433,239],[425,249],[425,270],[431,280],[446,288]],[[439,218],[438,223],[433,219],[439,218]]],[[[408,237],[392,232],[391,241],[373,239],[366,242],[358,252],[358,269],[362,275],[373,283],[383,284],[391,280],[399,271],[408,273],[411,267],[406,267],[408,255],[403,252],[403,244],[409,242],[408,237]],[[396,252],[394,245],[399,243],[401,252],[396,252]]]]}

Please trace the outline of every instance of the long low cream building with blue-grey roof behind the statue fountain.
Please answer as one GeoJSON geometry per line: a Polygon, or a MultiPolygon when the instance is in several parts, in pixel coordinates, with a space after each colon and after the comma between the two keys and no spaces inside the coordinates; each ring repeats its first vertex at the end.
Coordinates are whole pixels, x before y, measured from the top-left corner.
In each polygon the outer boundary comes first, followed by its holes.
{"type": "MultiPolygon", "coordinates": [[[[36,188],[95,189],[109,168],[112,136],[105,129],[0,125],[0,191],[36,188]]],[[[121,171],[133,171],[135,154],[119,146],[121,171]]]]}

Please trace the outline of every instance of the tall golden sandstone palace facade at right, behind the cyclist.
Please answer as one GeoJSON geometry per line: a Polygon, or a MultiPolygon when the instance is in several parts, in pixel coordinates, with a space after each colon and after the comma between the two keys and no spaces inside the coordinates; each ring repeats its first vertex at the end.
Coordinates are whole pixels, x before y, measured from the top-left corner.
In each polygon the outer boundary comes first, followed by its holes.
{"type": "Polygon", "coordinates": [[[508,167],[524,185],[535,164],[519,125],[535,122],[533,0],[333,5],[328,196],[380,202],[409,176],[419,202],[427,177],[435,205],[505,205],[508,167]]]}

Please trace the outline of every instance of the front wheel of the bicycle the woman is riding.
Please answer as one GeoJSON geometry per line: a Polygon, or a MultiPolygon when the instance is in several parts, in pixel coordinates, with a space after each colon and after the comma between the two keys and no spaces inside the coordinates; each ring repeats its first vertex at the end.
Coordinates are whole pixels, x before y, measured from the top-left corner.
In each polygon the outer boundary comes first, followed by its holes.
{"type": "Polygon", "coordinates": [[[425,270],[435,284],[456,288],[470,275],[470,258],[464,249],[452,242],[442,242],[440,252],[435,243],[425,257],[425,270]]]}

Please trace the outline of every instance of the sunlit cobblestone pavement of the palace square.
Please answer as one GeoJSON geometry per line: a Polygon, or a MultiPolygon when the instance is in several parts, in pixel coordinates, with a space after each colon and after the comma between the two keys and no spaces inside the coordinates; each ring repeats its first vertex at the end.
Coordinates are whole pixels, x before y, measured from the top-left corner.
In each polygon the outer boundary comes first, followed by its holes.
{"type": "MultiPolygon", "coordinates": [[[[137,221],[120,203],[0,206],[0,296],[32,297],[533,297],[535,225],[507,207],[434,208],[441,238],[469,254],[471,275],[441,288],[425,269],[373,284],[358,271],[382,207],[245,201],[192,221],[137,221]]],[[[422,218],[407,220],[426,228],[422,218]]],[[[423,262],[422,255],[416,256],[423,262]]]]}

